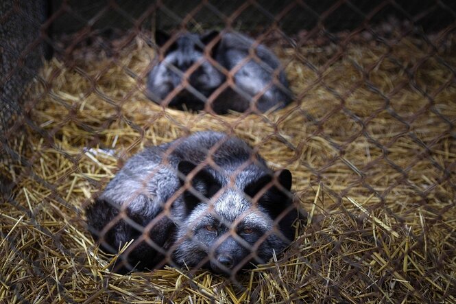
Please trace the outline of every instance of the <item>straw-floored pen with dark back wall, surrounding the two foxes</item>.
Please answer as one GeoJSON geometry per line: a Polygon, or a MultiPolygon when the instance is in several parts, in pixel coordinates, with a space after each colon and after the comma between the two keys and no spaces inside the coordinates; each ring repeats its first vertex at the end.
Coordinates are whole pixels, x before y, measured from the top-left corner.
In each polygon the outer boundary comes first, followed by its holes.
{"type": "Polygon", "coordinates": [[[456,302],[453,1],[92,2],[1,4],[1,301],[456,302]],[[224,115],[152,102],[158,29],[252,37],[291,102],[224,115]],[[101,250],[86,208],[136,153],[204,130],[291,172],[306,217],[291,244],[236,275],[112,272],[134,242],[101,250]]]}

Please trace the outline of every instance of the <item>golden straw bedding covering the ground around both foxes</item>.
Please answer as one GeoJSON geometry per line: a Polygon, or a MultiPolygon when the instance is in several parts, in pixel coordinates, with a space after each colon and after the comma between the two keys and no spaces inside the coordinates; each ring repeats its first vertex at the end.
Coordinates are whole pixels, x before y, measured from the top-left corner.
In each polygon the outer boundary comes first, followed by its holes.
{"type": "Polygon", "coordinates": [[[298,102],[265,115],[149,102],[154,51],[140,37],[109,58],[47,62],[25,133],[9,143],[18,158],[1,163],[16,187],[1,203],[0,299],[456,303],[456,40],[433,39],[273,47],[298,102]],[[291,170],[308,211],[296,242],[235,282],[204,270],[110,273],[116,257],[86,231],[86,204],[144,146],[208,129],[291,170]]]}

